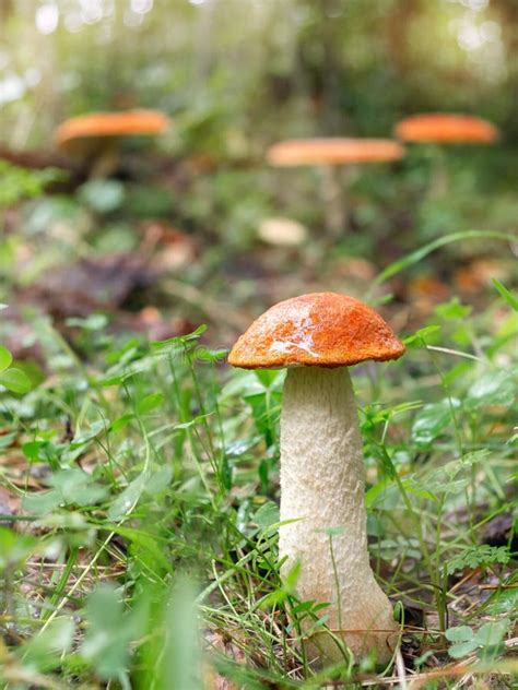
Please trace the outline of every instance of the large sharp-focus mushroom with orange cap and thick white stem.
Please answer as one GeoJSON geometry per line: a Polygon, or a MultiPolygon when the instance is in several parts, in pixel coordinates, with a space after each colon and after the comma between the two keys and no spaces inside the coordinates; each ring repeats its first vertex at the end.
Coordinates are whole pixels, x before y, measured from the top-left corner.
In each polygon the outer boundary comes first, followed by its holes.
{"type": "MultiPolygon", "coordinates": [[[[281,527],[285,576],[299,562],[296,593],[328,603],[337,639],[358,658],[390,658],[397,624],[367,551],[362,437],[348,367],[397,359],[404,346],[373,309],[314,293],[281,301],[238,338],[228,362],[287,369],[281,415],[281,527]]],[[[320,629],[321,630],[321,629],[320,629]]],[[[310,638],[322,662],[343,658],[329,634],[310,638]]]]}

